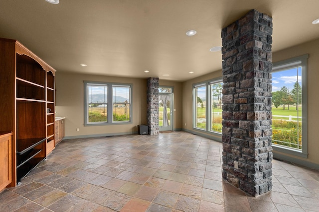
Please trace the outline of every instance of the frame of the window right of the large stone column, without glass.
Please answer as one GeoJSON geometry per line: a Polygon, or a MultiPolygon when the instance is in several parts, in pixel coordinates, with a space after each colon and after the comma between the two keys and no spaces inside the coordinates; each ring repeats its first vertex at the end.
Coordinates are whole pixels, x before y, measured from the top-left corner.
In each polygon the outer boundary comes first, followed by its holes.
{"type": "Polygon", "coordinates": [[[284,71],[297,66],[302,67],[302,149],[272,144],[273,150],[308,158],[308,136],[307,136],[307,59],[309,55],[302,55],[296,58],[273,63],[272,72],[284,71]]]}

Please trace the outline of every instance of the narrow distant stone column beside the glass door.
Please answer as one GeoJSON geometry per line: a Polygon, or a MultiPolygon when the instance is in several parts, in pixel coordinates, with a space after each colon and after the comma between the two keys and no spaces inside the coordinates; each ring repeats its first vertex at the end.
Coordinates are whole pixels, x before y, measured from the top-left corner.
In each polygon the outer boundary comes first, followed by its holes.
{"type": "Polygon", "coordinates": [[[150,135],[158,135],[159,130],[159,78],[148,78],[147,89],[148,126],[150,135]]]}

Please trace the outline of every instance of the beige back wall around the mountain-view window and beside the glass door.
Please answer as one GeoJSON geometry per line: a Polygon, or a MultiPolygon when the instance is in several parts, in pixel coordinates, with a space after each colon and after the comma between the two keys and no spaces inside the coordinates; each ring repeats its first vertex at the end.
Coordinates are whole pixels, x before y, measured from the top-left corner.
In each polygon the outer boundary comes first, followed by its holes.
{"type": "MultiPolygon", "coordinates": [[[[160,85],[174,87],[173,129],[181,129],[181,82],[162,81],[160,85]]],[[[138,125],[147,124],[147,79],[56,72],[56,117],[65,117],[66,138],[94,135],[119,135],[138,132],[138,125]],[[83,81],[133,84],[133,124],[84,127],[83,81]],[[79,132],[76,129],[79,128],[79,132]]]]}

